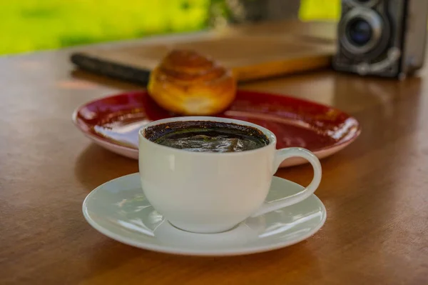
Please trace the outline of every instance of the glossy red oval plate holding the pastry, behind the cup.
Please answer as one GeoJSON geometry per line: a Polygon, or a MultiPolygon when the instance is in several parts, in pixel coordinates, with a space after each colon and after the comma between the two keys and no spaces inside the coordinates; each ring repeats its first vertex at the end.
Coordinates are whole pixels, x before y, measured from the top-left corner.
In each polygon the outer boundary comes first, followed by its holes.
{"type": "MultiPolygon", "coordinates": [[[[141,126],[171,116],[175,115],[161,109],[146,91],[134,91],[84,104],[73,113],[73,121],[96,144],[138,159],[141,126]]],[[[300,146],[320,159],[340,151],[360,134],[358,121],[338,109],[253,91],[238,91],[230,108],[217,116],[264,126],[277,136],[277,149],[300,146]]],[[[287,159],[281,166],[302,163],[302,159],[287,159]]]]}

